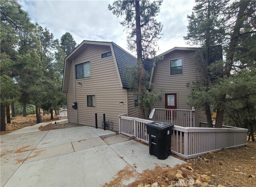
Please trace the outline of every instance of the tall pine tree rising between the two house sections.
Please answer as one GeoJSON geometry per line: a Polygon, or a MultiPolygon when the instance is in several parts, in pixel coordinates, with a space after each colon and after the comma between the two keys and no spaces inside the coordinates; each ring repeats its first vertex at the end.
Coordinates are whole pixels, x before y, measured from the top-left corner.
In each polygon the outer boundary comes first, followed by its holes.
{"type": "MultiPolygon", "coordinates": [[[[124,17],[124,21],[120,24],[126,27],[129,35],[127,36],[128,48],[137,53],[137,66],[130,71],[134,73],[138,84],[138,105],[139,117],[145,118],[145,96],[149,96],[148,88],[146,87],[146,73],[143,68],[143,60],[154,58],[156,56],[156,41],[160,38],[162,24],[157,22],[155,17],[160,11],[162,0],[117,0],[112,6],[108,5],[108,10],[111,10],[117,17],[124,17]]],[[[131,77],[132,79],[132,77],[131,77]]],[[[134,87],[133,85],[129,85],[134,87]]]]}

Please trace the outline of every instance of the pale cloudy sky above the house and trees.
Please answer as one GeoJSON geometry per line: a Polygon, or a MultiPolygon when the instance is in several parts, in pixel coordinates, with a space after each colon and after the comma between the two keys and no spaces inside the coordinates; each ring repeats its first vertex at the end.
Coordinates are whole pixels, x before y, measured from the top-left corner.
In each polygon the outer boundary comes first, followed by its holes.
{"type": "MultiPolygon", "coordinates": [[[[19,1],[24,10],[28,11],[33,22],[47,27],[56,38],[70,32],[79,44],[83,40],[114,41],[127,49],[126,31],[120,25],[122,18],[116,18],[108,10],[107,0],[25,0],[19,1]]],[[[160,14],[156,18],[164,28],[158,41],[158,54],[172,47],[188,46],[183,36],[186,35],[188,20],[194,0],[164,0],[160,14]]],[[[131,51],[130,51],[131,52],[131,51]]],[[[132,53],[135,54],[135,53],[132,53]]]]}

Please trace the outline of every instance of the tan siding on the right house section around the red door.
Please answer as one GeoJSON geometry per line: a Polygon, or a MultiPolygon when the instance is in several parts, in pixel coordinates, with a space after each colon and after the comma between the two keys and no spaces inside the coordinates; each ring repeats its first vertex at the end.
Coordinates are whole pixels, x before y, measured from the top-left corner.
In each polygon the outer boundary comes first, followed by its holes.
{"type": "MultiPolygon", "coordinates": [[[[197,71],[197,60],[191,57],[192,51],[180,51],[176,50],[165,55],[164,59],[159,61],[154,68],[154,75],[152,79],[153,88],[160,90],[164,88],[164,93],[176,93],[177,94],[177,109],[191,110],[191,106],[187,103],[186,97],[190,95],[190,89],[186,87],[188,82],[196,80],[196,76],[199,75],[197,71]],[[182,58],[182,74],[170,75],[170,60],[182,58]]],[[[165,108],[164,94],[160,100],[153,103],[154,108],[165,108]]],[[[197,110],[197,109],[196,109],[197,110]]],[[[196,116],[196,123],[198,121],[205,121],[203,113],[196,116]],[[200,120],[201,119],[201,120],[200,120]]],[[[197,124],[196,124],[197,125],[197,124]]],[[[198,124],[199,125],[199,124],[198,124]]]]}

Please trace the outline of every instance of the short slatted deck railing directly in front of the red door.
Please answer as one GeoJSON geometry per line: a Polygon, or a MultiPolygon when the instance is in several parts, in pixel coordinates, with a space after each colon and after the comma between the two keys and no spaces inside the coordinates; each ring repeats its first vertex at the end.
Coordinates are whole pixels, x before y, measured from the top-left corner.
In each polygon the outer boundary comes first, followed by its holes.
{"type": "Polygon", "coordinates": [[[154,108],[149,118],[153,121],[172,123],[182,127],[195,127],[194,110],[154,108]]]}

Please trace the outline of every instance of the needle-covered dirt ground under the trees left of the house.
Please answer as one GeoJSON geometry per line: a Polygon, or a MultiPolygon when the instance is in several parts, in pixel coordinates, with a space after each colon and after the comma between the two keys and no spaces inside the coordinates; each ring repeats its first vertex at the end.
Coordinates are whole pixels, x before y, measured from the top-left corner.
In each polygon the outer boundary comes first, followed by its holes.
{"type": "MultiPolygon", "coordinates": [[[[41,117],[42,122],[51,122],[59,119],[57,116],[53,116],[54,119],[50,120],[50,115],[42,115],[41,117]]],[[[1,131],[1,135],[8,134],[20,128],[36,125],[36,115],[28,115],[26,117],[16,116],[12,118],[11,122],[10,124],[6,124],[6,131],[1,131]]]]}

